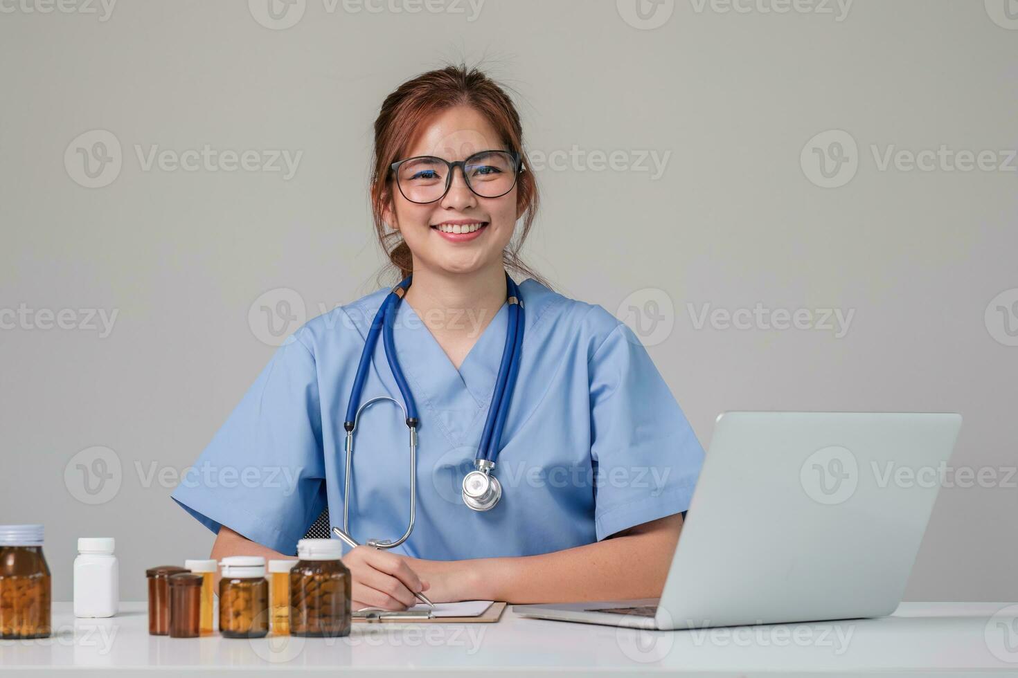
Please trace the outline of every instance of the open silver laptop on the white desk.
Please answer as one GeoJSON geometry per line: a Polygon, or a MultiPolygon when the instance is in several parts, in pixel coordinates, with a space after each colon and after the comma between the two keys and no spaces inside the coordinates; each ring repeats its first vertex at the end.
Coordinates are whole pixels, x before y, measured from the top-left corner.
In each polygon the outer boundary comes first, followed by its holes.
{"type": "Polygon", "coordinates": [[[958,414],[725,413],[660,600],[513,611],[658,629],[889,615],[960,428],[958,414]]]}

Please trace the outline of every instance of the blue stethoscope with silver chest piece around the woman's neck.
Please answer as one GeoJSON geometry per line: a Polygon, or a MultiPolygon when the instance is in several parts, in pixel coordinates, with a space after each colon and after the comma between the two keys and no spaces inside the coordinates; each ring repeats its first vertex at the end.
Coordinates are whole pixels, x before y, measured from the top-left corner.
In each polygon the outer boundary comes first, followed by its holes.
{"type": "MultiPolygon", "coordinates": [[[[375,314],[371,329],[367,331],[367,338],[364,340],[364,349],[360,354],[360,363],[357,365],[357,374],[353,379],[353,388],[350,390],[350,402],[346,408],[346,421],[343,428],[346,430],[346,458],[344,463],[344,483],[343,483],[343,529],[333,528],[333,531],[348,544],[356,544],[350,535],[350,478],[351,458],[353,456],[353,432],[357,428],[357,419],[360,413],[375,403],[381,400],[392,400],[403,412],[403,419],[406,427],[410,430],[410,521],[406,527],[406,532],[396,541],[370,539],[369,546],[376,548],[391,549],[399,546],[413,532],[413,520],[415,518],[417,502],[417,408],[413,403],[413,394],[406,383],[403,371],[396,360],[396,345],[393,341],[393,321],[399,303],[410,287],[410,280],[413,275],[408,275],[406,280],[394,287],[382,302],[382,307],[375,314]],[[385,347],[386,360],[392,376],[396,380],[399,392],[403,396],[403,403],[388,395],[379,395],[360,404],[360,391],[363,389],[364,380],[367,378],[367,370],[372,364],[372,356],[375,354],[375,347],[378,345],[379,334],[382,334],[382,344],[385,347]],[[405,406],[404,406],[405,404],[405,406]],[[358,407],[359,405],[359,407],[358,407]]],[[[506,273],[507,299],[509,304],[509,322],[506,330],[505,347],[502,350],[502,363],[499,366],[498,377],[495,379],[495,390],[492,392],[492,403],[488,408],[488,419],[485,421],[485,428],[480,434],[480,444],[477,446],[477,453],[474,457],[474,470],[466,474],[463,478],[463,503],[475,511],[487,511],[495,507],[502,498],[502,484],[492,475],[495,469],[495,458],[499,451],[499,442],[502,439],[502,429],[505,426],[506,416],[509,413],[509,402],[512,398],[513,387],[516,384],[516,375],[519,372],[520,347],[523,344],[523,298],[519,293],[519,288],[506,273]]]]}

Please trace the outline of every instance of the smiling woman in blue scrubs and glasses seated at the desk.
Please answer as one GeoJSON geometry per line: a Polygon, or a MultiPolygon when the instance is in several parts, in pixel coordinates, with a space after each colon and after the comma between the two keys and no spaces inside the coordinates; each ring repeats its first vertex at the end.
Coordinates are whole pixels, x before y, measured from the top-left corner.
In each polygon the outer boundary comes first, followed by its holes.
{"type": "MultiPolygon", "coordinates": [[[[522,149],[510,99],[464,66],[405,82],[376,120],[375,226],[400,280],[412,273],[393,337],[419,413],[417,501],[400,546],[344,554],[357,607],[403,609],[419,592],[435,602],[535,603],[651,598],[664,587],[703,451],[628,327],[552,292],[520,262],[538,206],[522,149]],[[528,275],[518,286],[524,334],[490,472],[503,496],[478,511],[460,488],[507,346],[507,269],[528,275]]],[[[294,332],[195,464],[212,473],[173,493],[218,533],[213,557],[292,556],[327,507],[343,528],[343,422],[389,293],[294,332]]],[[[376,395],[404,402],[383,342],[360,403],[376,395]]],[[[403,415],[374,405],[356,432],[349,531],[361,544],[394,541],[410,492],[403,415]]]]}

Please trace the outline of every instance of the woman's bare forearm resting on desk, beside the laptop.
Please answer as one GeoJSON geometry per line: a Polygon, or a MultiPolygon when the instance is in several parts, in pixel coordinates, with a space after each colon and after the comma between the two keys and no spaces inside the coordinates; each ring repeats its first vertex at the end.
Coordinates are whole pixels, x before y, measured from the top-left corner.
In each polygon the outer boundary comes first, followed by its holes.
{"type": "Polygon", "coordinates": [[[536,556],[411,563],[445,580],[443,600],[509,603],[631,600],[661,595],[682,516],[670,515],[613,538],[536,556]]]}

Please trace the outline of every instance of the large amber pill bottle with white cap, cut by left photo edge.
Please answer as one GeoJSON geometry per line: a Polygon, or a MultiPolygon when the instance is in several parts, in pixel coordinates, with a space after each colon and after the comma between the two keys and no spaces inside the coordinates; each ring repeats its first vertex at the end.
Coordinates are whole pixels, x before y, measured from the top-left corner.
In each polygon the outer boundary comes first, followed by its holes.
{"type": "Polygon", "coordinates": [[[0,638],[49,637],[50,600],[43,526],[0,526],[0,638]]]}

